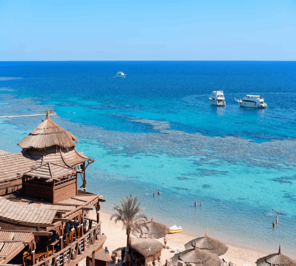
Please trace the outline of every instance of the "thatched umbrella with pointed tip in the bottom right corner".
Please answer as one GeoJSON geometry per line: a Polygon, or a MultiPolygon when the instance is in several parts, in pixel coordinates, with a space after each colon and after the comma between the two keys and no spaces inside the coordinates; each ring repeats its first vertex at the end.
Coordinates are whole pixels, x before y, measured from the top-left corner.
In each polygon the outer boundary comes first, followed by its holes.
{"type": "Polygon", "coordinates": [[[257,266],[296,266],[296,262],[288,256],[281,254],[281,245],[279,253],[274,253],[256,261],[257,266]]]}

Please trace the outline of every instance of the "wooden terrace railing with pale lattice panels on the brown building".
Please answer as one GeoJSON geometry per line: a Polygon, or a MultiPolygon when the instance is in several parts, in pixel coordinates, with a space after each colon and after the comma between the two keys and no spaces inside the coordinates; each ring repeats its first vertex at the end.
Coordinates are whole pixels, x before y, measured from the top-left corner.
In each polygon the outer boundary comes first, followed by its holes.
{"type": "Polygon", "coordinates": [[[81,254],[96,243],[100,235],[101,226],[100,223],[98,223],[89,229],[81,238],[65,246],[61,251],[54,253],[52,256],[42,259],[33,266],[65,266],[71,261],[79,259],[78,257],[81,256],[81,254]]]}

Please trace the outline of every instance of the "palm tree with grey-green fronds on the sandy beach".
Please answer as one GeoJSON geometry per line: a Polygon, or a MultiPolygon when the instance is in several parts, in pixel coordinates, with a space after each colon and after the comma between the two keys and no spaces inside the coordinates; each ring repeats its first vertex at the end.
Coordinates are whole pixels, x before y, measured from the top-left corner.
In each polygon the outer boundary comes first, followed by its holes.
{"type": "Polygon", "coordinates": [[[116,210],[117,213],[112,214],[110,220],[115,218],[115,223],[118,221],[123,222],[123,227],[126,228],[127,241],[126,246],[130,246],[131,244],[131,231],[133,229],[140,228],[141,225],[147,222],[147,217],[144,214],[139,214],[144,209],[140,209],[139,206],[141,204],[138,202],[138,197],[132,198],[130,196],[126,196],[125,199],[120,199],[121,206],[113,204],[113,210],[116,210]]]}

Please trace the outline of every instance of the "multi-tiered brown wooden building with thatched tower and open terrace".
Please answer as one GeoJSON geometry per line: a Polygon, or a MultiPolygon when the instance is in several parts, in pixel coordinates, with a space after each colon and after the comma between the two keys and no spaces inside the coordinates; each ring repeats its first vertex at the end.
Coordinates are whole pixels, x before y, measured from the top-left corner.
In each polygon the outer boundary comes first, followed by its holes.
{"type": "MultiPolygon", "coordinates": [[[[95,160],[75,150],[78,139],[49,118],[0,155],[0,266],[74,266],[102,256],[102,196],[85,191],[95,160]],[[78,189],[82,177],[83,190],[78,189]]],[[[104,255],[104,254],[103,254],[104,255]]]]}

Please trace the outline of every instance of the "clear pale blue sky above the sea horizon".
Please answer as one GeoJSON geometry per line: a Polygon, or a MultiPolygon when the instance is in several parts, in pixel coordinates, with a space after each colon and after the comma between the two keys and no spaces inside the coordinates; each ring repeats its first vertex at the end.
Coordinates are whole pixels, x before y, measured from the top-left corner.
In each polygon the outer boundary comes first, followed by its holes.
{"type": "Polygon", "coordinates": [[[7,60],[296,60],[296,0],[0,0],[7,60]]]}

